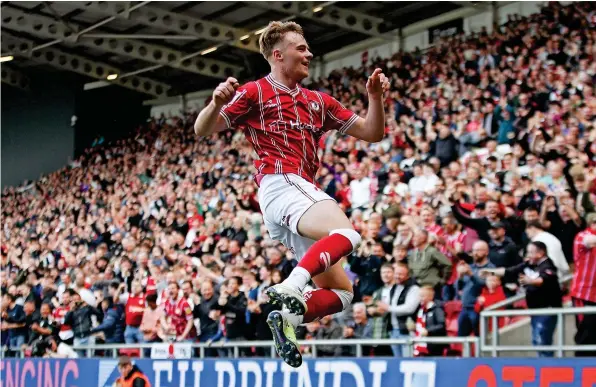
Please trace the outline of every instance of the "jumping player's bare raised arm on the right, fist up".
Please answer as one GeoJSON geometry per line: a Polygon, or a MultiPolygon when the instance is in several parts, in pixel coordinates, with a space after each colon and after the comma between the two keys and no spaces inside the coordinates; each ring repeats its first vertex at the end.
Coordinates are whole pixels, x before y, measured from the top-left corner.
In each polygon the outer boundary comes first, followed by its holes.
{"type": "Polygon", "coordinates": [[[389,80],[376,69],[366,82],[368,92],[368,112],[366,118],[358,118],[346,133],[368,142],[379,142],[385,135],[385,109],[383,94],[389,89],[389,80]]]}

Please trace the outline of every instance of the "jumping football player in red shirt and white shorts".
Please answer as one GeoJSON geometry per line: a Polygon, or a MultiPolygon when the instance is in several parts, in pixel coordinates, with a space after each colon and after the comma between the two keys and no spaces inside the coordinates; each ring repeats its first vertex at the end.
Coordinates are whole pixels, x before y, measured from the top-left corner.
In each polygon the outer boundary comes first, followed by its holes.
{"type": "Polygon", "coordinates": [[[337,203],[315,186],[320,138],[337,130],[368,142],[385,132],[383,93],[389,80],[376,69],[368,79],[366,118],[346,109],[333,97],[300,86],[312,60],[302,27],[294,22],[271,22],[259,38],[271,74],[243,86],[228,78],[194,125],[199,136],[240,128],[252,144],[259,185],[258,199],[271,238],[295,251],[298,266],[267,294],[289,312],[274,311],[269,325],[280,356],[291,366],[302,364],[295,340],[297,325],[334,314],[353,298],[350,280],[335,265],[360,243],[337,203]],[[303,295],[313,279],[319,289],[303,295]],[[306,301],[305,301],[306,299],[306,301]]]}

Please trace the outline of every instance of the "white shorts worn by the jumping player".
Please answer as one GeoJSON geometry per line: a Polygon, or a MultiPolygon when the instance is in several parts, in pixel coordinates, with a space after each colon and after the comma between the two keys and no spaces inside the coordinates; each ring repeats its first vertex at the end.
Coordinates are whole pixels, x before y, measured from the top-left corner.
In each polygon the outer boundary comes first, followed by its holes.
{"type": "Polygon", "coordinates": [[[334,200],[314,184],[293,173],[265,175],[259,204],[271,239],[279,240],[300,260],[316,242],[298,234],[298,222],[315,203],[334,200]]]}

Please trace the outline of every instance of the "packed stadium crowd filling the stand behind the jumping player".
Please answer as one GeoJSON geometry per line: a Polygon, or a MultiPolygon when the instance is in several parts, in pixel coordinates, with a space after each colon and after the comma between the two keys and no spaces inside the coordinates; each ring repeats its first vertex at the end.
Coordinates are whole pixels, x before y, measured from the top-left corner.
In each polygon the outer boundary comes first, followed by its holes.
{"type": "MultiPolygon", "coordinates": [[[[479,312],[522,289],[530,308],[560,307],[566,293],[596,304],[594,10],[549,2],[492,34],[445,38],[307,85],[364,115],[372,70],[392,82],[383,141],[321,139],[318,183],[363,243],[342,262],[352,308],[299,336],[478,335],[479,312]],[[569,273],[572,284],[559,287],[569,273]]],[[[152,119],[133,137],[4,189],[9,355],[176,341],[213,343],[212,354],[226,356],[217,342],[271,338],[264,289],[297,262],[263,226],[244,135],[199,140],[196,115],[152,119]]],[[[555,323],[533,318],[533,342],[552,342],[555,323]]],[[[595,343],[588,323],[596,326],[585,316],[578,342],[595,343]]],[[[353,350],[321,346],[318,356],[353,350]]]]}

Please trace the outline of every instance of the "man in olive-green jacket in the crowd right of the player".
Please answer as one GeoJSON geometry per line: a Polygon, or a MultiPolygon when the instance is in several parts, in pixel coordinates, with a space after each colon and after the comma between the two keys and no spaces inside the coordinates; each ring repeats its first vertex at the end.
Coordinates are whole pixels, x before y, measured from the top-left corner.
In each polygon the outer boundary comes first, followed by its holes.
{"type": "Polygon", "coordinates": [[[412,276],[419,284],[430,285],[440,291],[441,286],[451,276],[451,261],[428,243],[426,230],[416,230],[412,243],[414,250],[408,255],[408,266],[412,276]]]}

